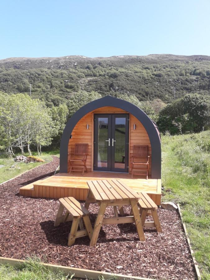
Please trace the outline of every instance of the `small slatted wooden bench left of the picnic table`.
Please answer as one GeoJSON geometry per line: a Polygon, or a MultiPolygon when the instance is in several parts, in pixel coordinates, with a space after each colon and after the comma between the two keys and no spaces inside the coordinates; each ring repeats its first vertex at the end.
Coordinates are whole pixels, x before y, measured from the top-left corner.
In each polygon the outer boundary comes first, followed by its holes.
{"type": "Polygon", "coordinates": [[[60,223],[72,221],[71,231],[68,235],[68,246],[74,244],[75,239],[82,236],[88,235],[91,239],[93,229],[89,218],[90,212],[73,197],[60,198],[59,202],[60,205],[58,208],[54,226],[59,226],[60,223]],[[64,209],[66,210],[65,215],[63,215],[64,209]],[[85,225],[85,229],[82,223],[82,219],[85,225]],[[79,231],[78,226],[80,226],[79,231]]]}

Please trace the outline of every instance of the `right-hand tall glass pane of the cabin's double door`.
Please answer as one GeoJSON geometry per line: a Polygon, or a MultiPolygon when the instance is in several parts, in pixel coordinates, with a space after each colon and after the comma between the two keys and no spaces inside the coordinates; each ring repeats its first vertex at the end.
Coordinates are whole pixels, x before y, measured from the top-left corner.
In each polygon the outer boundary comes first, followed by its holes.
{"type": "Polygon", "coordinates": [[[114,168],[125,169],[125,122],[126,118],[115,118],[114,168]]]}

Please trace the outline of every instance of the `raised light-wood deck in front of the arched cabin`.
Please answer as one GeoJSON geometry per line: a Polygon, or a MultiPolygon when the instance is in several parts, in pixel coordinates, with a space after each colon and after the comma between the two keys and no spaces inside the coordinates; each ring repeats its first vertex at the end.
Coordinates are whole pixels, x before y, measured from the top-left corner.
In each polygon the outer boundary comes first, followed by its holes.
{"type": "Polygon", "coordinates": [[[20,194],[28,197],[62,198],[72,196],[78,200],[86,200],[88,185],[87,180],[121,179],[125,184],[135,191],[145,191],[152,200],[161,204],[161,179],[143,179],[139,176],[131,178],[127,173],[112,172],[81,172],[58,173],[35,181],[20,188],[20,194]]]}

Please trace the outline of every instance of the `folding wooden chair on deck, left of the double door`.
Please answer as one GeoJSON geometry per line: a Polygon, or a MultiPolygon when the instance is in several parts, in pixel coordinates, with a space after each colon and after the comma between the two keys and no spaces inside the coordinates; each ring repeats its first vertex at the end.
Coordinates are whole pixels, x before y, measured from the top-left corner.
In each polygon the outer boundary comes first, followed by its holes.
{"type": "Polygon", "coordinates": [[[77,168],[82,168],[82,175],[84,175],[84,171],[85,170],[87,171],[87,167],[86,167],[87,151],[88,151],[88,144],[83,144],[83,143],[75,144],[74,153],[69,154],[70,156],[69,174],[71,173],[71,171],[77,171],[77,168]],[[77,163],[82,163],[82,164],[77,164],[77,163]],[[73,168],[76,168],[76,170],[74,170],[73,168]]]}

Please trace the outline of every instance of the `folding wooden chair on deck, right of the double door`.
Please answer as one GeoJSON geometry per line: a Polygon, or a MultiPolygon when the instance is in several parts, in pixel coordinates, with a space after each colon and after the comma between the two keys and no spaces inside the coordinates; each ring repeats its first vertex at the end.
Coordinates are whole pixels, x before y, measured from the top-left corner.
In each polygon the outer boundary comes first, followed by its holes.
{"type": "Polygon", "coordinates": [[[141,171],[147,174],[148,179],[148,172],[149,172],[149,158],[148,156],[148,146],[133,146],[133,154],[131,156],[131,171],[132,171],[132,178],[133,178],[133,171],[141,171]],[[146,158],[147,162],[139,162],[140,159],[146,158]],[[135,159],[139,159],[135,161],[135,159]],[[135,165],[135,168],[134,168],[135,165]],[[141,168],[145,166],[145,168],[141,168]]]}

